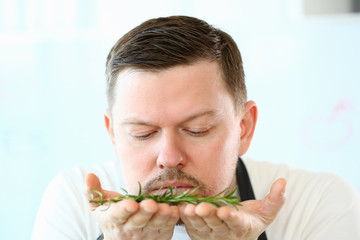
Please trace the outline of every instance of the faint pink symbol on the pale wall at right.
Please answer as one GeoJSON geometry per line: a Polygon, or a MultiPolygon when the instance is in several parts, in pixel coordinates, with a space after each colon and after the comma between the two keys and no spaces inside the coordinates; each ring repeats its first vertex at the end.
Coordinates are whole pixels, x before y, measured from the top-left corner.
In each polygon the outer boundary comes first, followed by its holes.
{"type": "Polygon", "coordinates": [[[346,146],[352,139],[354,125],[351,121],[355,103],[339,100],[328,114],[314,114],[304,124],[303,138],[309,146],[333,151],[346,146]]]}

